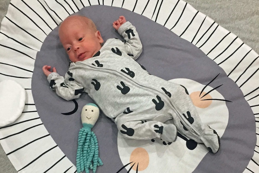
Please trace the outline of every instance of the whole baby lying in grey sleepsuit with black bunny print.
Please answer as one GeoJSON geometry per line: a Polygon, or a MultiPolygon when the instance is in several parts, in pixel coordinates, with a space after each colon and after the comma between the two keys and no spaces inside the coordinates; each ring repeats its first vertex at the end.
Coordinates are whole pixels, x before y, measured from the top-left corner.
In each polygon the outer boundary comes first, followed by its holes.
{"type": "Polygon", "coordinates": [[[136,28],[124,16],[113,22],[123,36],[104,42],[92,20],[67,17],[59,26],[59,39],[72,61],[65,78],[55,67],[43,66],[50,88],[66,100],[83,92],[111,118],[128,139],[161,138],[173,142],[177,131],[217,153],[215,130],[203,125],[187,90],[181,85],[148,74],[135,60],[142,52],[136,28]],[[174,124],[165,124],[173,119],[174,124]]]}

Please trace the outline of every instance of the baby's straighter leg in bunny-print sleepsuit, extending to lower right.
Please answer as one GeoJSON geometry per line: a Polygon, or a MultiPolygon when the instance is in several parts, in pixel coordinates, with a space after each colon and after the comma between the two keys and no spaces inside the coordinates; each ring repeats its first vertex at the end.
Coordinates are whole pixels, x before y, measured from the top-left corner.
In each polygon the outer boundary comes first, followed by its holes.
{"type": "Polygon", "coordinates": [[[201,122],[200,116],[185,88],[182,86],[176,88],[178,89],[172,94],[174,97],[170,101],[175,109],[172,116],[177,129],[194,141],[204,143],[213,153],[217,153],[220,147],[217,132],[201,122]]]}

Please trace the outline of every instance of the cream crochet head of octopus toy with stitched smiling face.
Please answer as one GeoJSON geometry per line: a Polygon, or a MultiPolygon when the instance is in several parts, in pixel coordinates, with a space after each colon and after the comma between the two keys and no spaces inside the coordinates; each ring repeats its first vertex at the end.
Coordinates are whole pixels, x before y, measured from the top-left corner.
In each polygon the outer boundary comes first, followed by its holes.
{"type": "Polygon", "coordinates": [[[85,105],[81,112],[82,123],[94,125],[99,117],[99,108],[96,104],[85,105]]]}

